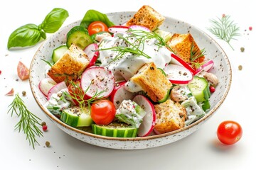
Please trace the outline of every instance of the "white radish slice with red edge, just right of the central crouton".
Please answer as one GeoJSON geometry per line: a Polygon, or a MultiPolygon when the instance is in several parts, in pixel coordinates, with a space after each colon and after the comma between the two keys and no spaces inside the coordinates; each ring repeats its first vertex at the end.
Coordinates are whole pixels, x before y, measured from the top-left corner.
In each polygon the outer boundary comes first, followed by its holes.
{"type": "Polygon", "coordinates": [[[193,79],[191,71],[178,64],[167,65],[164,72],[173,84],[188,84],[193,79]]]}

